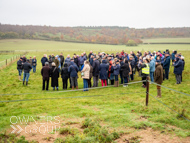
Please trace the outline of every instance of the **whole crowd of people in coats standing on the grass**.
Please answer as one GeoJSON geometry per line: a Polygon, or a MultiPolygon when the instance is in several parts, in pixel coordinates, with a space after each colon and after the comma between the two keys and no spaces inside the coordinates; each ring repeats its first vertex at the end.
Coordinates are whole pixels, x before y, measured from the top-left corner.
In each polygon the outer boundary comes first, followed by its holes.
{"type": "MultiPolygon", "coordinates": [[[[144,52],[138,51],[134,53],[131,51],[108,54],[105,52],[90,53],[87,55],[85,52],[80,56],[74,54],[72,57],[67,55],[64,58],[63,54],[54,56],[54,54],[47,57],[46,54],[41,59],[42,69],[41,75],[43,77],[43,90],[48,90],[49,79],[51,78],[51,87],[53,90],[59,90],[58,79],[61,75],[63,89],[68,88],[68,81],[70,88],[78,89],[78,72],[81,72],[83,78],[84,91],[88,91],[90,87],[98,87],[99,79],[102,86],[108,84],[119,86],[120,83],[123,87],[128,86],[129,81],[134,80],[134,75],[142,77],[143,88],[146,88],[146,79],[150,76],[151,82],[162,84],[163,80],[169,79],[170,63],[174,67],[174,74],[176,77],[176,84],[182,82],[182,72],[184,70],[185,61],[181,53],[173,51],[170,54],[169,50],[144,52]],[[92,85],[93,79],[93,85],[92,85]],[[46,85],[46,86],[45,86],[46,85]]],[[[19,71],[19,80],[24,70],[23,85],[26,79],[28,84],[29,73],[31,69],[36,72],[37,60],[36,57],[26,59],[25,56],[21,57],[17,62],[17,69],[19,71]]],[[[161,97],[160,86],[157,86],[158,97],[161,97]]]]}

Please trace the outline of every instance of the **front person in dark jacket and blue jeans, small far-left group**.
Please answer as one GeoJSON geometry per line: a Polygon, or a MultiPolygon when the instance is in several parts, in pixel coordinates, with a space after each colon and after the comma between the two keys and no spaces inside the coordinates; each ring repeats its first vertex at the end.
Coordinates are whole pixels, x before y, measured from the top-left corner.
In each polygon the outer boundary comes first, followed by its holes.
{"type": "Polygon", "coordinates": [[[23,75],[23,85],[26,80],[26,86],[28,86],[28,80],[30,76],[30,70],[32,69],[31,64],[29,63],[29,60],[26,60],[26,62],[23,64],[22,69],[24,70],[24,75],[23,75]]]}

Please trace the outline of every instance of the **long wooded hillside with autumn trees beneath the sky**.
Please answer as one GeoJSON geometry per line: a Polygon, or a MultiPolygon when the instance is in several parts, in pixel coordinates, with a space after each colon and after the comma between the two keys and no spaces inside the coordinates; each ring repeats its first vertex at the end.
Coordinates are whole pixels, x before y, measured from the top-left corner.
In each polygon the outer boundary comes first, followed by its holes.
{"type": "Polygon", "coordinates": [[[52,27],[0,24],[0,39],[21,38],[133,46],[142,43],[141,39],[144,38],[177,37],[190,37],[190,28],[135,29],[119,26],[52,27]]]}

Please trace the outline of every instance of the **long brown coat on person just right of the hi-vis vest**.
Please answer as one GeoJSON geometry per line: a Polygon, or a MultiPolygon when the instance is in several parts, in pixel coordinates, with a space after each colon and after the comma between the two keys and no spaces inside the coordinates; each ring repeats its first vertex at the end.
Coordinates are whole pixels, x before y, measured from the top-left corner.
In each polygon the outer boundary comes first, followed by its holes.
{"type": "Polygon", "coordinates": [[[156,69],[154,71],[154,81],[157,84],[162,84],[163,82],[163,68],[161,64],[156,65],[156,69]]]}

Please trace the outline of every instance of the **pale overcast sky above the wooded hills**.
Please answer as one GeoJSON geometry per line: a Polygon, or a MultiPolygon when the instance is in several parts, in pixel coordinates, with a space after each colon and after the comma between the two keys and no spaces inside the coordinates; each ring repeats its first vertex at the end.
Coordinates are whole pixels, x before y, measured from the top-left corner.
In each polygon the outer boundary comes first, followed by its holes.
{"type": "Polygon", "coordinates": [[[190,0],[0,0],[0,23],[190,27],[190,0]]]}

